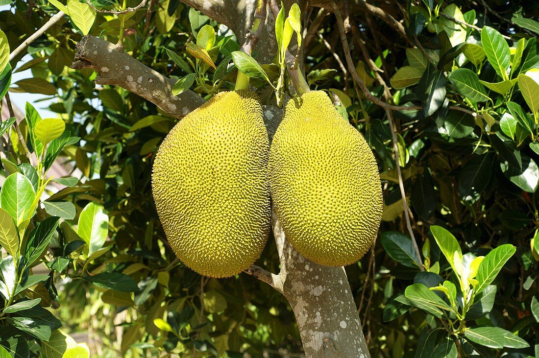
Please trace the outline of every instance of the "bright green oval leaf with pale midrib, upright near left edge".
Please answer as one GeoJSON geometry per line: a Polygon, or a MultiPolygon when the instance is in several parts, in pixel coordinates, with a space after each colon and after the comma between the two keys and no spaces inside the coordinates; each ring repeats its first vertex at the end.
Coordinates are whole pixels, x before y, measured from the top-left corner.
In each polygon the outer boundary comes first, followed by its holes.
{"type": "Polygon", "coordinates": [[[35,198],[32,183],[21,173],[13,173],[6,178],[0,191],[0,204],[17,225],[33,212],[35,198]]]}

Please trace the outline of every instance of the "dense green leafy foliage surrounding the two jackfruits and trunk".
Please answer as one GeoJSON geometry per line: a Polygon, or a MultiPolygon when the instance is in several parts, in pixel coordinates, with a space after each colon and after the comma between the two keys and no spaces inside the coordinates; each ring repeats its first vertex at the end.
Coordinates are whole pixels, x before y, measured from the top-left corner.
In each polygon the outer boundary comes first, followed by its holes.
{"type": "MultiPolygon", "coordinates": [[[[198,276],[170,250],[150,175],[176,118],[70,68],[82,34],[120,37],[125,52],[181,79],[176,93],[208,99],[233,88],[243,39],[177,0],[120,15],[101,11],[138,2],[0,4],[0,95],[46,99],[12,103],[24,109],[18,124],[2,102],[13,118],[0,125],[0,356],[61,357],[79,332],[100,357],[300,356],[279,292],[244,274],[198,276]],[[9,58],[59,10],[69,16],[9,58]],[[41,107],[61,119],[42,119],[41,107]],[[70,175],[51,179],[55,161],[70,175]]],[[[300,2],[301,47],[311,88],[334,94],[383,180],[378,239],[346,268],[371,355],[539,356],[539,4],[339,5],[300,2]]],[[[253,74],[264,103],[276,101],[264,80],[278,80],[275,67],[253,74]]],[[[269,240],[257,264],[278,263],[269,240]]]]}

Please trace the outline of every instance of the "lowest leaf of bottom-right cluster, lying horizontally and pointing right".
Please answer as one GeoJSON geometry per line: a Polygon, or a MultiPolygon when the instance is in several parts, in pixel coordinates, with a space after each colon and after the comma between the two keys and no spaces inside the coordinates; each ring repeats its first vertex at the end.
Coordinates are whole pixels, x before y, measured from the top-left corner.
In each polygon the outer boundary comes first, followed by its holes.
{"type": "Polygon", "coordinates": [[[489,348],[526,348],[528,342],[500,327],[467,328],[464,336],[472,342],[489,348]]]}

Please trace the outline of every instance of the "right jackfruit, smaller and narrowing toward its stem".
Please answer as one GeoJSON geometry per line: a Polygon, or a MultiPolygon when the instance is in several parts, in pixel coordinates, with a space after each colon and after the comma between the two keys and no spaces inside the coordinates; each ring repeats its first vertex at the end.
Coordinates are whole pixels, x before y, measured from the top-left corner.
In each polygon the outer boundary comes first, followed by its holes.
{"type": "Polygon", "coordinates": [[[327,266],[356,262],[382,220],[382,185],[363,136],[326,93],[288,102],[269,151],[269,187],[288,241],[327,266]]]}

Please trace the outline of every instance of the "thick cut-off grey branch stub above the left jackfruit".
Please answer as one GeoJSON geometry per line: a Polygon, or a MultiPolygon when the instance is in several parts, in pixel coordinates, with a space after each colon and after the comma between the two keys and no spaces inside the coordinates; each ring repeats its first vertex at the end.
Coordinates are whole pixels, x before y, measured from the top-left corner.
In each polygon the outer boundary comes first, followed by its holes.
{"type": "Polygon", "coordinates": [[[85,36],[77,44],[73,68],[92,68],[99,76],[99,85],[120,86],[155,103],[172,116],[181,118],[204,103],[196,93],[186,90],[175,96],[175,80],[154,71],[108,41],[85,36]]]}

